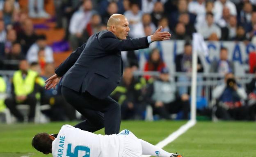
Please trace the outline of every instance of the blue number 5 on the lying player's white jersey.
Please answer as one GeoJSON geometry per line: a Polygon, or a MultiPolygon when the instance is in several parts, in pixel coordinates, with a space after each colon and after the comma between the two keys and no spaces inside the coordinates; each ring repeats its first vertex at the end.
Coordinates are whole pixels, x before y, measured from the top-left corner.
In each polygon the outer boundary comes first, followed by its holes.
{"type": "Polygon", "coordinates": [[[67,153],[66,156],[69,157],[78,157],[78,151],[85,151],[85,155],[82,157],[90,157],[90,148],[87,146],[76,146],[74,148],[74,153],[71,152],[71,144],[68,144],[68,149],[67,149],[67,153]]]}

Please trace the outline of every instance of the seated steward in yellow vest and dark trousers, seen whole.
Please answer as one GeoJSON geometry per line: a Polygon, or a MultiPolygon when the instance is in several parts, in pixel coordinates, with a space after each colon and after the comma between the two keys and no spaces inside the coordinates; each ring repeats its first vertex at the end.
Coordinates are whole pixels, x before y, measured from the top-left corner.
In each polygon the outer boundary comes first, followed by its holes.
{"type": "Polygon", "coordinates": [[[12,96],[5,100],[6,106],[10,112],[17,118],[18,122],[23,122],[23,115],[17,110],[17,104],[28,104],[30,112],[28,115],[29,122],[33,122],[35,116],[35,108],[37,104],[37,84],[38,73],[29,70],[27,60],[21,60],[19,70],[14,72],[12,78],[12,96]]]}

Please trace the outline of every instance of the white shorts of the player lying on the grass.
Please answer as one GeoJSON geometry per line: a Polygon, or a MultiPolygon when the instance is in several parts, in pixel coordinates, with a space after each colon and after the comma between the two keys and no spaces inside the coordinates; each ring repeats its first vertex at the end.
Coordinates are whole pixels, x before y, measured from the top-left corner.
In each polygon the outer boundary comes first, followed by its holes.
{"type": "Polygon", "coordinates": [[[142,155],[142,145],[129,130],[122,130],[117,137],[120,140],[119,157],[140,157],[142,155]]]}

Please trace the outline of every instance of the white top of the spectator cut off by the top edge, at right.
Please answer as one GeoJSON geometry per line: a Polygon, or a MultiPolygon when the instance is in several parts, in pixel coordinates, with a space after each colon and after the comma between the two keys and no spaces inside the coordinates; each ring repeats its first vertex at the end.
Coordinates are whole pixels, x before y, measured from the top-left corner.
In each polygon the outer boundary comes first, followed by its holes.
{"type": "Polygon", "coordinates": [[[214,21],[219,21],[222,17],[222,10],[224,7],[228,7],[230,14],[236,16],[237,11],[235,4],[230,0],[216,0],[214,2],[213,14],[214,14],[214,21]]]}

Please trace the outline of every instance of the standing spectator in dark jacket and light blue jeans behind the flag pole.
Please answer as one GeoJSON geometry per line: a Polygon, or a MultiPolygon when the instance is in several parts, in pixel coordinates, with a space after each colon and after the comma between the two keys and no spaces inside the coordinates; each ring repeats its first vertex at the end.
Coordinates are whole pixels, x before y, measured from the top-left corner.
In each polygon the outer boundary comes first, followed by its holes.
{"type": "MultiPolygon", "coordinates": [[[[192,72],[192,45],[190,42],[185,42],[184,45],[184,53],[181,53],[175,57],[175,65],[176,65],[176,72],[185,72],[191,73],[192,72]]],[[[199,57],[197,57],[197,72],[203,72],[203,65],[199,57]]],[[[187,77],[186,75],[182,75],[178,77],[179,82],[189,82],[191,78],[187,77]]],[[[197,77],[197,81],[201,81],[201,77],[197,77]]],[[[197,96],[202,95],[202,86],[197,87],[197,96]]],[[[183,95],[184,93],[188,93],[187,86],[181,86],[178,89],[179,95],[183,95]]]]}

